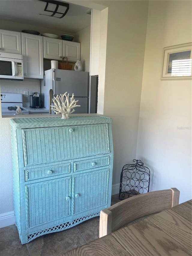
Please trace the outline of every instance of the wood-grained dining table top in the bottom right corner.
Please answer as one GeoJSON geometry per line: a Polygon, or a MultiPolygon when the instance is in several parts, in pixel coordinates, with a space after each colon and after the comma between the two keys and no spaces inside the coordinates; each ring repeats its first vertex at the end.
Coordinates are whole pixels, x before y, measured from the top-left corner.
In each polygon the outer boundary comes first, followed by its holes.
{"type": "Polygon", "coordinates": [[[192,200],[150,215],[64,256],[192,255],[192,200]]]}

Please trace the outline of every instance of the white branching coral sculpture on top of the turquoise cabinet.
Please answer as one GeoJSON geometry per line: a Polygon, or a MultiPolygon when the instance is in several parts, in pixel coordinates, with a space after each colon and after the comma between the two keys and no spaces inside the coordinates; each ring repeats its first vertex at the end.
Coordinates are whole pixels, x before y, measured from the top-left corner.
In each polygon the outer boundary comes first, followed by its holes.
{"type": "Polygon", "coordinates": [[[51,106],[51,108],[56,114],[62,114],[61,119],[69,119],[69,114],[75,111],[74,107],[81,107],[80,105],[76,105],[76,102],[78,101],[79,100],[74,99],[74,94],[72,94],[69,102],[69,93],[67,95],[67,92],[65,92],[64,94],[61,94],[61,96],[57,95],[56,97],[53,97],[55,106],[51,106]],[[64,97],[66,98],[65,101],[64,97]]]}

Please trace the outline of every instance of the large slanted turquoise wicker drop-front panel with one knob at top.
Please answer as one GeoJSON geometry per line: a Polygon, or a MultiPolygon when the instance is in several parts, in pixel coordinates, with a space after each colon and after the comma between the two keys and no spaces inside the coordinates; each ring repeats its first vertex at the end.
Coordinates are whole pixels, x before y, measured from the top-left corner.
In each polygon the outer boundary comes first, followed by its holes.
{"type": "Polygon", "coordinates": [[[107,124],[23,129],[22,140],[25,166],[110,152],[107,124]]]}

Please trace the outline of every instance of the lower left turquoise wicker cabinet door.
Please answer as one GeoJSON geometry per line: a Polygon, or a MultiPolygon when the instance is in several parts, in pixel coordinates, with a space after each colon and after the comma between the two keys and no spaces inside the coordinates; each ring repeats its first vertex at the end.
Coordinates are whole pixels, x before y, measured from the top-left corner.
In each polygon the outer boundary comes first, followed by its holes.
{"type": "Polygon", "coordinates": [[[25,187],[27,229],[71,215],[71,176],[25,187]]]}

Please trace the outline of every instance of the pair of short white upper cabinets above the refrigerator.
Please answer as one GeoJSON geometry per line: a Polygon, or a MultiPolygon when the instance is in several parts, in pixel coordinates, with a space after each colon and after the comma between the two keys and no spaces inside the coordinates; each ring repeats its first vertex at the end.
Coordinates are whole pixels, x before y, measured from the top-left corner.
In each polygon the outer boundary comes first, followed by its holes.
{"type": "Polygon", "coordinates": [[[44,58],[58,59],[67,57],[68,61],[80,60],[81,44],[61,39],[44,37],[44,58]]]}

